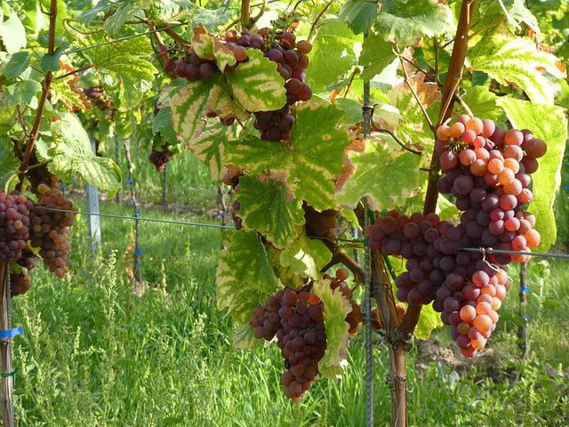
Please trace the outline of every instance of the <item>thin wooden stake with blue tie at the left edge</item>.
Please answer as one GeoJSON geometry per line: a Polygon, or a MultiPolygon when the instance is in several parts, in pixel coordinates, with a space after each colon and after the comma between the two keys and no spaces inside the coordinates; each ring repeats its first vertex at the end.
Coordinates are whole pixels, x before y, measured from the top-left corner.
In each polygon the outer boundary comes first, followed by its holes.
{"type": "MultiPolygon", "coordinates": [[[[0,262],[0,330],[12,329],[8,264],[0,262]]],[[[2,372],[12,372],[12,338],[0,338],[2,372]]],[[[2,425],[14,425],[14,383],[12,375],[2,376],[2,425]]]]}

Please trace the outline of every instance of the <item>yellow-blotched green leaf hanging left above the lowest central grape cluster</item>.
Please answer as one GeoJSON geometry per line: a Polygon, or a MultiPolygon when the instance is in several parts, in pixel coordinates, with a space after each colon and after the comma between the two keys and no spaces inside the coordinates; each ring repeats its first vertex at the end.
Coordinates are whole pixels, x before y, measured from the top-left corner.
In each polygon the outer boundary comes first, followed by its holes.
{"type": "Polygon", "coordinates": [[[234,335],[234,345],[251,347],[252,331],[249,333],[244,327],[252,329],[247,324],[252,310],[275,294],[276,276],[257,233],[239,230],[228,236],[228,248],[220,253],[215,278],[217,305],[219,310],[228,308],[228,315],[242,326],[234,335]]]}

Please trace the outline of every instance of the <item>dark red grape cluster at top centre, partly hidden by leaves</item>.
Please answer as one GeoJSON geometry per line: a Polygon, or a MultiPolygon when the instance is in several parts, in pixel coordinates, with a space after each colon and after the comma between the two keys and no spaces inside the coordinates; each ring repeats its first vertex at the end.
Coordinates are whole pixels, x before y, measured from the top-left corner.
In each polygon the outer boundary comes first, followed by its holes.
{"type": "MultiPolygon", "coordinates": [[[[309,66],[308,53],[312,44],[306,40],[296,42],[295,36],[289,31],[273,31],[260,28],[252,34],[247,28],[241,35],[236,30],[229,30],[225,36],[226,46],[233,52],[237,61],[234,66],[226,66],[223,72],[235,69],[239,63],[247,62],[247,50],[257,49],[264,53],[269,60],[276,62],[276,70],[284,79],[286,88],[286,103],[281,109],[274,111],[258,111],[255,113],[254,126],[260,131],[260,137],[266,141],[286,141],[291,138],[294,117],[290,114],[291,106],[297,101],[309,101],[312,89],[304,83],[305,69],[309,66]]],[[[219,70],[216,63],[200,58],[196,52],[188,52],[178,59],[168,59],[164,63],[166,73],[175,72],[178,77],[190,81],[212,77],[219,70]]],[[[216,117],[215,112],[208,117],[216,117]]],[[[223,125],[232,125],[235,117],[220,117],[223,125]]]]}

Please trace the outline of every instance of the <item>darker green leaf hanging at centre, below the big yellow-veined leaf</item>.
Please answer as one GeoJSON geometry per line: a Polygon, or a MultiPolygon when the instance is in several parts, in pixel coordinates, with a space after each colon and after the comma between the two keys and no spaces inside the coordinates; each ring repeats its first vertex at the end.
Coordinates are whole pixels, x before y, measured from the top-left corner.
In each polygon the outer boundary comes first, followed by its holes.
{"type": "Polygon", "coordinates": [[[260,232],[277,249],[293,244],[295,226],[304,224],[301,201],[287,201],[286,186],[280,182],[262,183],[245,175],[239,179],[239,186],[237,200],[244,228],[260,232]]]}

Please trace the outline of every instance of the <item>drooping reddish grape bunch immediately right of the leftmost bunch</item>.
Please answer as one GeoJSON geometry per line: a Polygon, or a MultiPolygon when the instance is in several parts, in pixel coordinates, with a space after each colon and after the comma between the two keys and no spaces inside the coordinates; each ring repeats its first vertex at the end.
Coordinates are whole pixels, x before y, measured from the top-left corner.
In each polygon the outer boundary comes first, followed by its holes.
{"type": "Polygon", "coordinates": [[[31,246],[39,247],[39,254],[44,264],[58,278],[63,278],[69,270],[67,259],[71,244],[68,241],[70,234],[68,227],[73,225],[76,214],[42,209],[42,207],[75,212],[76,208],[73,207],[71,200],[63,196],[60,189],[50,189],[45,184],[40,184],[38,191],[44,195],[44,198],[29,214],[32,226],[31,246]]]}

